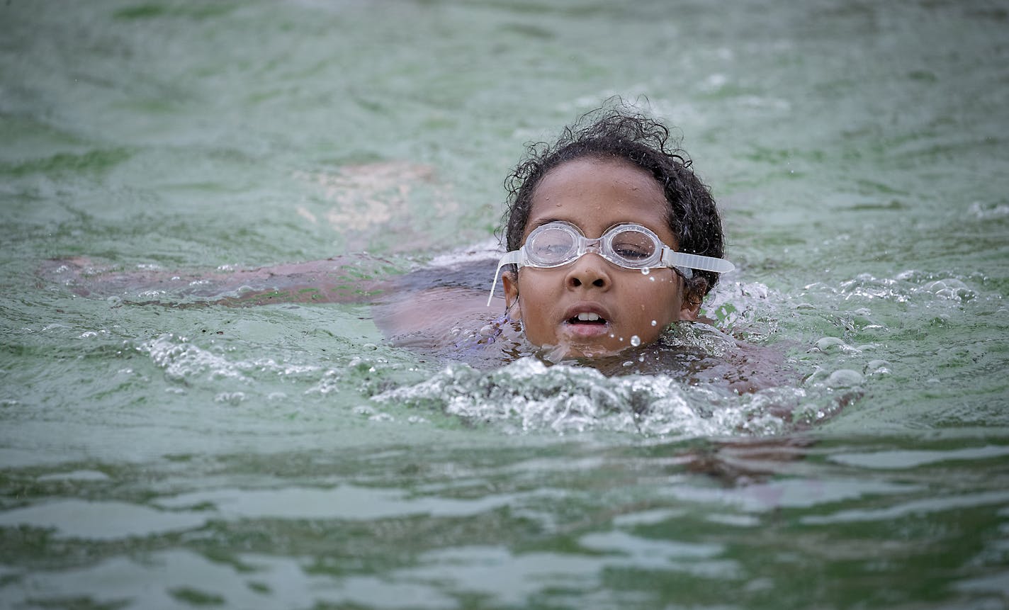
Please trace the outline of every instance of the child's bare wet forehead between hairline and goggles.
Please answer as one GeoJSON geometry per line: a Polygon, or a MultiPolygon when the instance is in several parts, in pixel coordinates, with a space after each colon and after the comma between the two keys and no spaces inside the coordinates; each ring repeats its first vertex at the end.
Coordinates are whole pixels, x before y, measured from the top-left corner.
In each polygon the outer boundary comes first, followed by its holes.
{"type": "Polygon", "coordinates": [[[537,186],[526,236],[562,220],[597,237],[619,223],[637,223],[671,239],[669,204],[651,173],[622,160],[575,159],[551,169],[537,186]]]}

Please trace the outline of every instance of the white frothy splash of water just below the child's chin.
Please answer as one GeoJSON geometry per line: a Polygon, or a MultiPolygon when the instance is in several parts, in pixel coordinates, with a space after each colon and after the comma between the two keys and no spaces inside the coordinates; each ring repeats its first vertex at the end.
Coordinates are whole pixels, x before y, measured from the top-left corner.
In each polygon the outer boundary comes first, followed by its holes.
{"type": "Polygon", "coordinates": [[[801,388],[747,396],[669,375],[605,377],[526,357],[493,371],[450,365],[430,380],[372,396],[379,404],[444,411],[510,434],[605,431],[646,436],[773,435],[807,398],[801,388]]]}

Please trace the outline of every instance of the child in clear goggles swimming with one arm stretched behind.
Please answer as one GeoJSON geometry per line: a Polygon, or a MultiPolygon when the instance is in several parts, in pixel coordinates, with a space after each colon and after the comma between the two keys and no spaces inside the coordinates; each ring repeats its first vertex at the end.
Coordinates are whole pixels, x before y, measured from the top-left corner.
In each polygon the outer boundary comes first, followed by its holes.
{"type": "MultiPolygon", "coordinates": [[[[370,302],[376,326],[397,346],[476,366],[537,355],[600,368],[667,340],[681,323],[704,322],[702,299],[734,268],[722,258],[709,190],[671,146],[668,129],[634,109],[594,111],[553,144],[531,145],[506,187],[507,253],[497,260],[477,256],[384,279],[360,279],[380,276],[382,261],[352,256],[217,276],[103,277],[87,271],[87,261],[62,261],[62,268],[90,275],[77,283],[79,293],[147,286],[198,297],[185,307],[370,302]],[[375,272],[361,273],[362,264],[375,272]],[[491,276],[488,298],[483,282],[491,276]]],[[[690,368],[735,378],[744,389],[754,377],[710,361],[690,368]]]]}

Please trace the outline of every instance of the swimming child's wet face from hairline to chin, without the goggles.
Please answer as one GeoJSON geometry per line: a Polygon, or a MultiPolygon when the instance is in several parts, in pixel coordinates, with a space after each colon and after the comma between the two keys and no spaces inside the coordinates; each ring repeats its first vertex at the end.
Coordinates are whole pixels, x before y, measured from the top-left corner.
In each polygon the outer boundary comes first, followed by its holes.
{"type": "MultiPolygon", "coordinates": [[[[668,210],[661,187],[643,169],[620,160],[575,159],[551,169],[536,188],[523,242],[558,220],[588,238],[637,223],[675,249],[668,210]]],[[[644,273],[592,252],[560,267],[524,266],[518,277],[506,273],[503,280],[510,312],[522,319],[527,339],[560,348],[566,357],[605,356],[651,343],[670,323],[695,320],[700,304],[684,299],[683,280],[668,267],[644,273]]]]}

